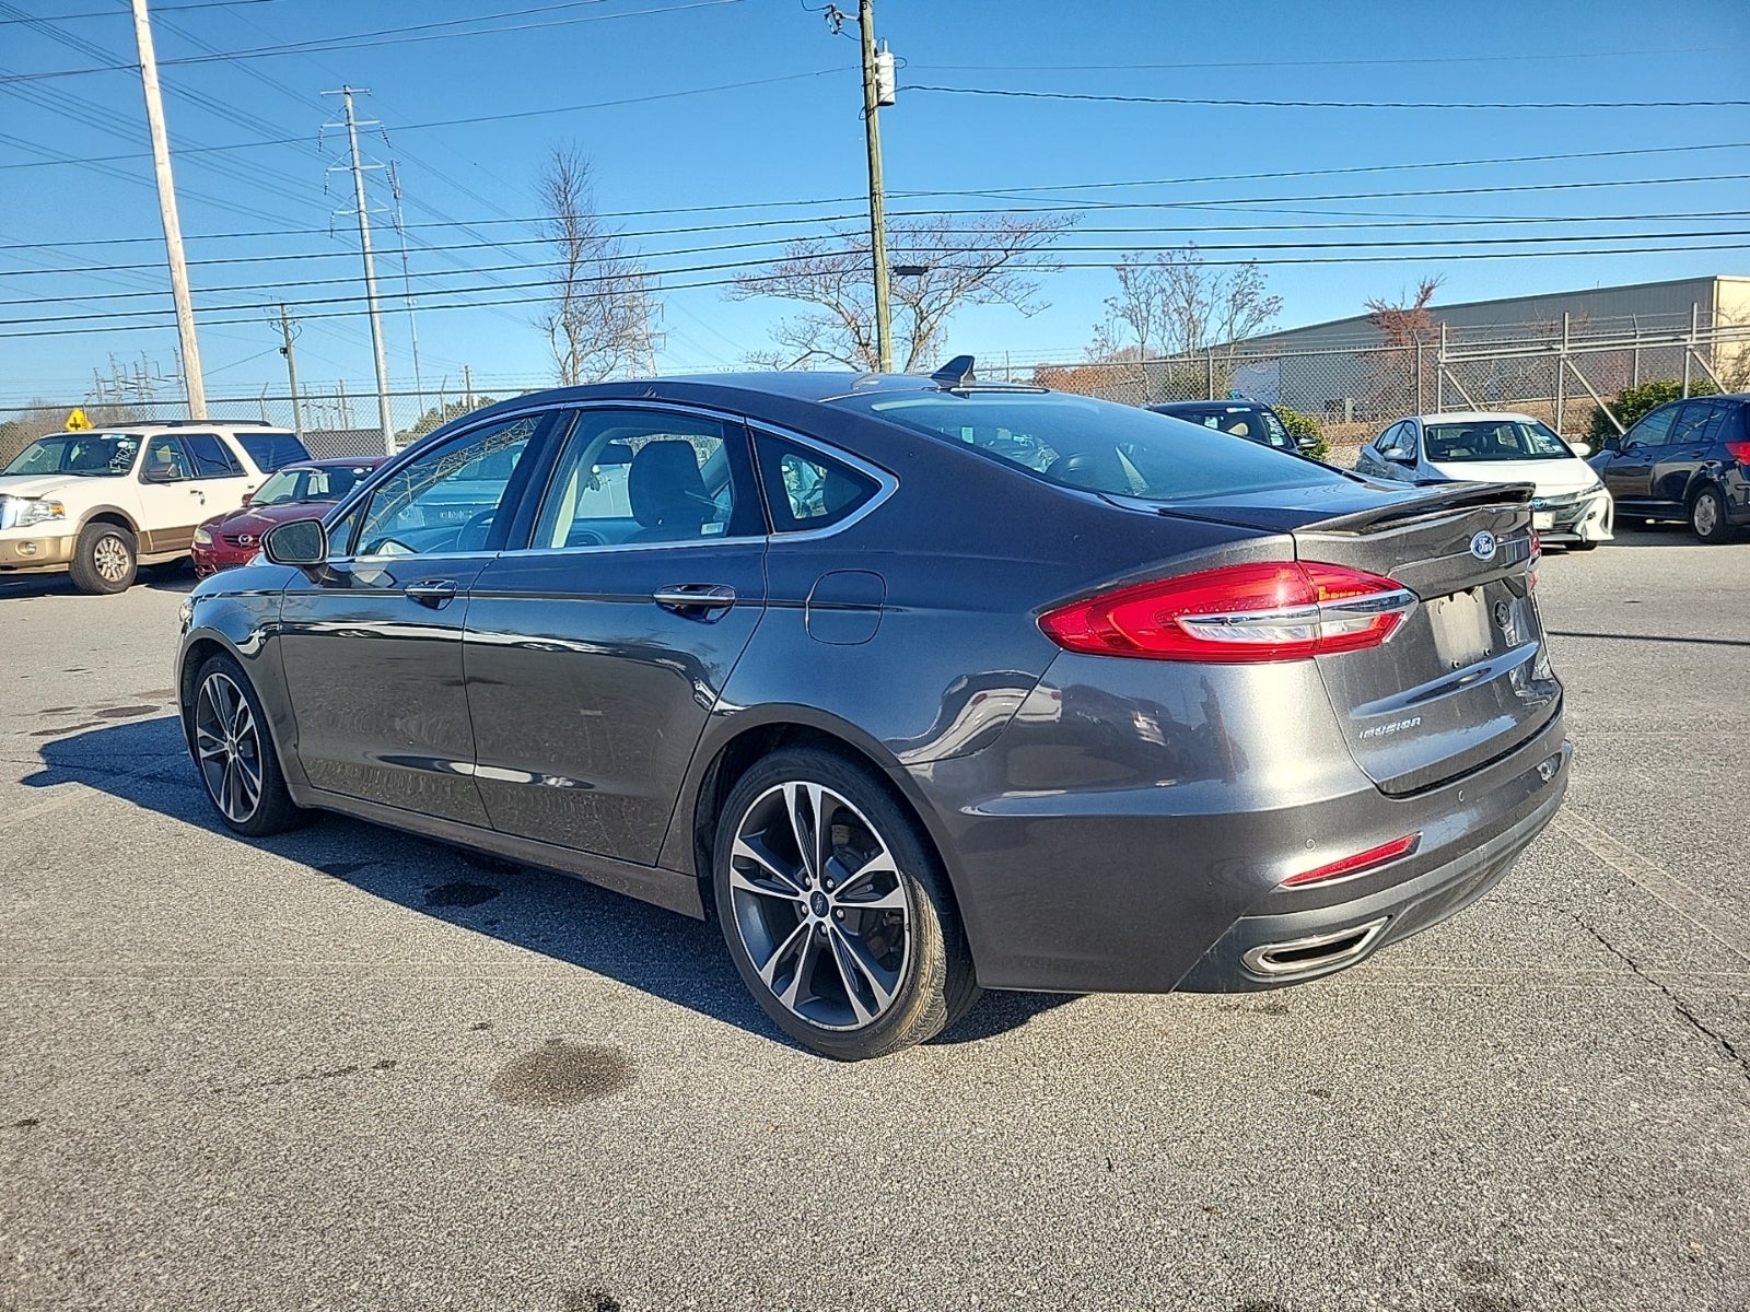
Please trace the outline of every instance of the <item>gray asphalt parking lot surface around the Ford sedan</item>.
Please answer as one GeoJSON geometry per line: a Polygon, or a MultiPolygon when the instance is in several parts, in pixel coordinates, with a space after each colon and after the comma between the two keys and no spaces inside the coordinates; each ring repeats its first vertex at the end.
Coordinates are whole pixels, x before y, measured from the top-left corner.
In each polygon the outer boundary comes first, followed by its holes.
{"type": "Polygon", "coordinates": [[[705,925],[220,833],[189,586],[0,581],[0,1309],[1750,1307],[1750,544],[1545,558],[1568,808],[1465,917],[854,1067],[705,925]]]}

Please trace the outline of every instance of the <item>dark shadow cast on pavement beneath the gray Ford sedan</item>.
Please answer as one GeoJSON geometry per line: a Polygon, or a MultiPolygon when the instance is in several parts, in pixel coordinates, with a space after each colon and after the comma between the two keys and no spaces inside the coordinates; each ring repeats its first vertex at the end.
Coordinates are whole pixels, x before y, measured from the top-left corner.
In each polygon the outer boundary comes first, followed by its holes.
{"type": "MultiPolygon", "coordinates": [[[[214,834],[247,861],[262,848],[312,876],[343,880],[420,915],[569,966],[606,974],[766,1039],[789,1044],[742,987],[716,925],[532,866],[413,834],[318,815],[262,840],[226,829],[189,763],[173,715],[70,733],[38,747],[28,787],[79,782],[214,834]]],[[[224,859],[224,857],[222,857],[224,859]]],[[[1069,994],[990,994],[936,1043],[987,1039],[1074,1001],[1069,994]]],[[[791,1044],[794,1046],[794,1044],[791,1044]]]]}

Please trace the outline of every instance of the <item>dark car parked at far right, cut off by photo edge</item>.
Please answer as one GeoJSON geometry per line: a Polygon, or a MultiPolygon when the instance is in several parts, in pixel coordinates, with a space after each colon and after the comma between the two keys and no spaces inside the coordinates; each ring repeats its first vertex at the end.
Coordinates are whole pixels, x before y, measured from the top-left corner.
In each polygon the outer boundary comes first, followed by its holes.
{"type": "Polygon", "coordinates": [[[1687,520],[1703,542],[1727,542],[1750,527],[1750,394],[1659,406],[1591,465],[1624,514],[1687,520]]]}

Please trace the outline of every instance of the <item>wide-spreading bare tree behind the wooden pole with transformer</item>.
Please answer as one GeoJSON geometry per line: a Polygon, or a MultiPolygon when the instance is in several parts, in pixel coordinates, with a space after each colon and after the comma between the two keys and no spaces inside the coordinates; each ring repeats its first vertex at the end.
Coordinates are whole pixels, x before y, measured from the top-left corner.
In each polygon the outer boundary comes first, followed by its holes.
{"type": "MultiPolygon", "coordinates": [[[[1045,310],[1038,280],[1029,273],[1052,268],[1045,252],[1073,222],[1074,215],[942,215],[889,224],[892,266],[920,269],[892,278],[900,369],[915,373],[936,360],[943,329],[961,306],[1006,304],[1022,315],[1045,310]]],[[[770,296],[807,306],[772,329],[774,348],[751,357],[754,364],[878,367],[868,240],[854,227],[791,241],[770,266],[740,275],[728,296],[733,301],[770,296]]]]}

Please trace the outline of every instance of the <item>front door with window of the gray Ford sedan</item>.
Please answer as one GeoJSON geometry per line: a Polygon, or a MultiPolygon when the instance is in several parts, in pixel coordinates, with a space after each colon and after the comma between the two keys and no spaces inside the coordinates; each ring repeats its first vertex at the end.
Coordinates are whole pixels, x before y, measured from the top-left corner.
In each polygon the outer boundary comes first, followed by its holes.
{"type": "Polygon", "coordinates": [[[486,824],[462,625],[558,423],[494,418],[392,467],[332,523],[327,563],[287,584],[280,661],[315,787],[486,824]]]}

